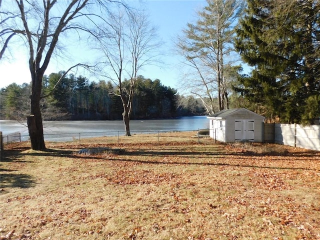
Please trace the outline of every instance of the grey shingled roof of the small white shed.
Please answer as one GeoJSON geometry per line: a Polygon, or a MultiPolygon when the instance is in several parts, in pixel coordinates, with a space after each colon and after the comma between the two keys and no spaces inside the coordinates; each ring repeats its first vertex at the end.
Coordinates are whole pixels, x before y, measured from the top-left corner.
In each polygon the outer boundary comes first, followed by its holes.
{"type": "Polygon", "coordinates": [[[223,109],[221,111],[218,111],[218,112],[208,116],[208,118],[218,118],[218,119],[229,119],[229,118],[265,119],[264,116],[256,114],[255,112],[250,111],[250,110],[248,110],[246,108],[223,109]]]}

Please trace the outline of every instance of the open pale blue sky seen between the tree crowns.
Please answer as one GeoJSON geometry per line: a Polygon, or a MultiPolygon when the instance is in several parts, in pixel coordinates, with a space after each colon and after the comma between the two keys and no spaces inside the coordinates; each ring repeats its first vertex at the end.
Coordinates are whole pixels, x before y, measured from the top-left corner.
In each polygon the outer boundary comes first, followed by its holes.
{"type": "MultiPolygon", "coordinates": [[[[194,21],[196,11],[205,6],[206,2],[205,0],[145,0],[144,3],[149,13],[149,20],[157,27],[157,34],[163,42],[160,49],[163,54],[160,56],[161,64],[143,66],[138,74],[151,80],[160,79],[163,85],[178,89],[183,75],[179,64],[182,59],[173,51],[174,38],[181,33],[188,22],[194,21]]],[[[88,54],[78,49],[77,51],[79,57],[85,58],[88,54]]],[[[12,82],[17,84],[30,82],[27,54],[24,52],[23,46],[17,47],[10,53],[7,59],[0,62],[0,88],[12,82]]],[[[63,60],[53,57],[45,74],[67,70],[70,66],[71,64],[64,64],[63,60]]],[[[100,79],[95,79],[85,73],[82,75],[89,80],[100,79]]]]}

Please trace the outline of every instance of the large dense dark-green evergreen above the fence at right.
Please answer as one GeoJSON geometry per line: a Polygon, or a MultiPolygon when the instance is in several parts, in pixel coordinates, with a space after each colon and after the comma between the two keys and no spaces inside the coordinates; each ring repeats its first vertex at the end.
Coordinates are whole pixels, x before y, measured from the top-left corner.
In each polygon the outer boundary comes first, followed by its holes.
{"type": "Polygon", "coordinates": [[[283,122],[312,123],[320,115],[320,2],[249,0],[236,48],[253,70],[239,78],[259,110],[283,122]]]}

